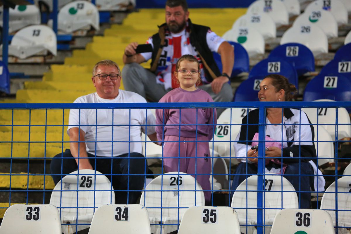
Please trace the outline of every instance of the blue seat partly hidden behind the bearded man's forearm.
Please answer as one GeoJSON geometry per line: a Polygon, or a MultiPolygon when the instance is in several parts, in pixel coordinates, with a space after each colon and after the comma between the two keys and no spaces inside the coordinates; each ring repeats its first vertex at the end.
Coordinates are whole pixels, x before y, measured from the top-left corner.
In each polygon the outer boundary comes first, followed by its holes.
{"type": "MultiPolygon", "coordinates": [[[[246,49],[237,42],[228,41],[229,44],[234,46],[234,67],[232,71],[231,77],[234,77],[241,72],[249,72],[250,64],[249,64],[249,54],[247,54],[246,49]]],[[[213,58],[217,63],[219,71],[222,72],[222,62],[220,55],[216,52],[213,52],[213,58]]]]}

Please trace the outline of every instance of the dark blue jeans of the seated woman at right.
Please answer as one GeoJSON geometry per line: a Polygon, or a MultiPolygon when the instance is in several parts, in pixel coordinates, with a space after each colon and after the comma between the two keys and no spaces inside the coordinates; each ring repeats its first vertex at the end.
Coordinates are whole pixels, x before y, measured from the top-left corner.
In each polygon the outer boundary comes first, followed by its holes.
{"type": "MultiPolygon", "coordinates": [[[[305,176],[305,175],[314,175],[313,168],[309,162],[301,162],[299,166],[298,162],[289,163],[285,169],[284,177],[289,180],[292,186],[296,191],[306,191],[310,192],[310,187],[313,188],[314,176],[305,176]],[[301,174],[299,175],[299,167],[301,166],[301,174]]],[[[257,166],[254,163],[247,163],[247,172],[246,172],[246,163],[240,162],[237,167],[236,174],[234,175],[232,188],[231,188],[231,197],[237,187],[241,182],[246,180],[247,177],[257,174],[257,166]]],[[[297,198],[300,202],[300,209],[310,209],[311,208],[311,193],[299,193],[297,192],[297,198]]]]}

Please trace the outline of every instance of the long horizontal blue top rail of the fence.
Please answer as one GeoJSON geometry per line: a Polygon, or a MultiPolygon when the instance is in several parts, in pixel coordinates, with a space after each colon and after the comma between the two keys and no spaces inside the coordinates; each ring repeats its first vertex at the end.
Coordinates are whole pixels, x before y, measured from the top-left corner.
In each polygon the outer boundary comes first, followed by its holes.
{"type": "Polygon", "coordinates": [[[0,103],[0,109],[130,109],[130,108],[267,108],[351,107],[340,102],[191,102],[191,103],[0,103]]]}

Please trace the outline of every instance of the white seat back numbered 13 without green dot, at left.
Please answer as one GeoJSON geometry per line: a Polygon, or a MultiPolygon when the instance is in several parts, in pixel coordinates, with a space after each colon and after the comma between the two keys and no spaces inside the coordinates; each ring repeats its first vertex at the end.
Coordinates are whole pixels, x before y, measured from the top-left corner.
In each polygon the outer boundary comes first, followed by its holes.
{"type": "MultiPolygon", "coordinates": [[[[31,25],[18,31],[11,40],[11,46],[31,48],[41,46],[53,55],[57,54],[57,39],[52,28],[45,25],[31,25]]],[[[32,54],[29,54],[32,56],[32,54]]]]}

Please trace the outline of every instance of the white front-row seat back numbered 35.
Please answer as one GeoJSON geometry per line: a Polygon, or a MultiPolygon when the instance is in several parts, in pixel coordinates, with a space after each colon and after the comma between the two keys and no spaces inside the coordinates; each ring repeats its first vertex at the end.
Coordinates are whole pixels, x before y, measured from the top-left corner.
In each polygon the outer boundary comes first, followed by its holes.
{"type": "Polygon", "coordinates": [[[238,214],[231,207],[192,206],[181,219],[178,234],[240,234],[238,214]]]}

